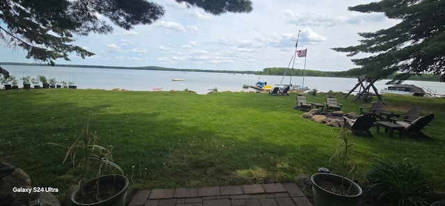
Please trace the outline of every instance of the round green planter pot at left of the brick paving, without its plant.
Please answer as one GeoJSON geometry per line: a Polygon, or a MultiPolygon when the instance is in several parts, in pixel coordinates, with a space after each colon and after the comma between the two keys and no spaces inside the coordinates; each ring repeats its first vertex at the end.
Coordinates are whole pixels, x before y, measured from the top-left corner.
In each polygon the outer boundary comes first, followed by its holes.
{"type": "MultiPolygon", "coordinates": [[[[105,182],[118,182],[123,184],[124,187],[117,193],[115,196],[108,198],[106,200],[97,202],[97,203],[78,203],[76,201],[76,196],[79,193],[79,188],[74,190],[71,194],[71,202],[74,206],[86,206],[86,205],[95,205],[95,206],[125,206],[125,200],[127,198],[127,188],[129,184],[129,180],[124,175],[102,175],[99,178],[99,185],[104,184],[105,182]]],[[[96,178],[92,180],[88,180],[87,182],[82,184],[82,188],[86,189],[88,187],[94,187],[96,183],[96,178]]]]}

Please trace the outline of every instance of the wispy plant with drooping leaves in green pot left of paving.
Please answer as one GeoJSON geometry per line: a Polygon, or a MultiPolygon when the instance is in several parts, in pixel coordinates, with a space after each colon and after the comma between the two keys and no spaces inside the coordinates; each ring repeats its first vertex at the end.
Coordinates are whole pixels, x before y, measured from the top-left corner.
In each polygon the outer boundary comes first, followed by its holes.
{"type": "Polygon", "coordinates": [[[65,154],[65,162],[70,157],[73,169],[79,174],[79,187],[71,194],[73,205],[114,205],[124,206],[129,180],[113,162],[113,147],[97,144],[98,138],[90,132],[88,120],[81,136],[76,138],[65,154]],[[115,174],[115,170],[122,175],[115,174]],[[110,171],[108,175],[102,175],[110,171]],[[86,177],[94,178],[85,182],[86,177]]]}

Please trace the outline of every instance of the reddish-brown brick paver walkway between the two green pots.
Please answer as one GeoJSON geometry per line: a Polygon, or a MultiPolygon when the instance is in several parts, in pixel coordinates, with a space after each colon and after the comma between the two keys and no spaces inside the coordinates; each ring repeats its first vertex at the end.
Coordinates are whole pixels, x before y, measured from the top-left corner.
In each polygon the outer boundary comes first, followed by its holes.
{"type": "Polygon", "coordinates": [[[293,183],[139,190],[128,206],[312,206],[293,183]]]}

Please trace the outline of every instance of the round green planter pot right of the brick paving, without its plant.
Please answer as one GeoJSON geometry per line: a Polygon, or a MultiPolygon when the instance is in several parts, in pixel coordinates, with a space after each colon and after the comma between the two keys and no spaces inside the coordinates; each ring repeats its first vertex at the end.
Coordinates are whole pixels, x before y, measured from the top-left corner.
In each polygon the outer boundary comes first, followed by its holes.
{"type": "Polygon", "coordinates": [[[326,189],[318,186],[317,182],[321,180],[334,182],[336,184],[341,185],[341,176],[334,175],[331,173],[316,173],[312,175],[312,191],[314,192],[314,202],[316,206],[338,206],[338,205],[357,205],[359,202],[360,196],[362,196],[362,188],[355,182],[344,178],[344,185],[346,187],[351,186],[351,191],[354,191],[355,195],[345,196],[340,195],[338,193],[333,193],[331,191],[327,191],[326,189]]]}

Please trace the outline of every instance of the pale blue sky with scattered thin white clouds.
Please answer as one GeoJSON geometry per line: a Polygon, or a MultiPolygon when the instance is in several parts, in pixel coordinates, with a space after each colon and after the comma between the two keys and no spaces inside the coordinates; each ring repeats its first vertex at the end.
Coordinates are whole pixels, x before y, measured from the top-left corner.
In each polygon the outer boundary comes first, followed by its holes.
{"type": "MultiPolygon", "coordinates": [[[[153,1],[165,8],[165,15],[154,24],[135,26],[130,31],[115,27],[110,34],[75,37],[75,45],[95,56],[82,59],[70,54],[71,61],[58,59],[56,64],[346,71],[357,68],[351,58],[362,56],[348,57],[331,48],[357,45],[361,39],[357,33],[387,29],[397,23],[381,13],[348,11],[348,6],[370,0],[252,0],[251,13],[223,15],[187,8],[174,0],[153,1]],[[307,49],[307,56],[293,62],[297,39],[297,49],[307,49]]],[[[26,59],[22,49],[2,46],[0,62],[40,63],[26,59]]]]}

